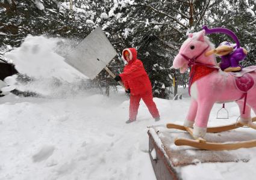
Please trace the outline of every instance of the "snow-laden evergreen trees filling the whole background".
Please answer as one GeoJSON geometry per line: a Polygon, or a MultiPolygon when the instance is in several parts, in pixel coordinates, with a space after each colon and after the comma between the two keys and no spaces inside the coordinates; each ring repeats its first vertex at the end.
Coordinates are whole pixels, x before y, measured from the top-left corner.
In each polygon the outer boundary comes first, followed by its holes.
{"type": "MultiPolygon", "coordinates": [[[[172,61],[187,34],[201,31],[202,25],[234,31],[241,46],[249,51],[243,65],[255,64],[255,8],[252,0],[0,0],[0,47],[2,53],[17,47],[28,34],[81,41],[101,26],[119,54],[109,64],[110,69],[121,73],[122,50],[136,47],[154,96],[168,98],[170,92],[173,96],[177,93],[178,85],[186,86],[188,81],[188,74],[171,68],[172,61]]],[[[209,36],[216,45],[232,41],[228,35],[209,36]]],[[[115,84],[104,70],[94,82],[107,88],[115,84]]]]}

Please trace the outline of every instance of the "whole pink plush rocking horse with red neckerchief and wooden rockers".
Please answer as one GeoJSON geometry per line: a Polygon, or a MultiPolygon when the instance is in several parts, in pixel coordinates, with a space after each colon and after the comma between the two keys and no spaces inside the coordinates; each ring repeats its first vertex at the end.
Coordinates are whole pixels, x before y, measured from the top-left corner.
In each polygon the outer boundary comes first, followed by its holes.
{"type": "MultiPolygon", "coordinates": [[[[239,46],[237,46],[239,47],[239,46]]],[[[180,52],[173,61],[174,68],[184,73],[191,67],[189,94],[191,104],[184,126],[167,124],[167,128],[189,131],[195,140],[176,139],[175,145],[189,145],[208,150],[238,149],[256,146],[256,140],[237,143],[211,143],[204,139],[207,132],[221,132],[247,125],[256,129],[251,118],[251,109],[256,113],[256,66],[243,68],[239,73],[226,73],[216,62],[213,52],[214,45],[205,30],[189,34],[180,52]],[[214,103],[236,101],[240,109],[237,124],[207,128],[208,118],[214,103]],[[192,129],[193,127],[193,129],[192,129]]]]}

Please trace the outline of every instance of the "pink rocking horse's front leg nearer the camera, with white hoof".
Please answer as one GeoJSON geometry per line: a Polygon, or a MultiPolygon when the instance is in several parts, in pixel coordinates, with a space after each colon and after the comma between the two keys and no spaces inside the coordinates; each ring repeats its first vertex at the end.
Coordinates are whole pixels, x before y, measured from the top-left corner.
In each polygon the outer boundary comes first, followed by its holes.
{"type": "Polygon", "coordinates": [[[214,102],[210,101],[198,101],[198,112],[196,113],[196,121],[193,129],[193,135],[195,137],[204,137],[207,131],[207,124],[211,108],[214,102]]]}

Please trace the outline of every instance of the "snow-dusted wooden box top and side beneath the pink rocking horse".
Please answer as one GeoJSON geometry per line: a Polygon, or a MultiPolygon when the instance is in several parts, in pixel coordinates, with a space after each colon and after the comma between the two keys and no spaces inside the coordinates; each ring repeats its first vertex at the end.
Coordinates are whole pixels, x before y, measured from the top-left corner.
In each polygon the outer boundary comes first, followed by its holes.
{"type": "MultiPolygon", "coordinates": [[[[238,163],[248,162],[251,149],[237,149],[233,151],[205,151],[190,146],[176,146],[174,140],[177,137],[191,139],[189,133],[167,128],[150,128],[149,154],[157,179],[182,179],[181,169],[202,163],[238,163]],[[245,153],[246,151],[246,153],[245,153]],[[156,152],[156,157],[153,152],[156,152]]],[[[222,133],[207,133],[205,136],[209,142],[240,142],[256,139],[256,133],[248,128],[226,131],[222,133]]]]}

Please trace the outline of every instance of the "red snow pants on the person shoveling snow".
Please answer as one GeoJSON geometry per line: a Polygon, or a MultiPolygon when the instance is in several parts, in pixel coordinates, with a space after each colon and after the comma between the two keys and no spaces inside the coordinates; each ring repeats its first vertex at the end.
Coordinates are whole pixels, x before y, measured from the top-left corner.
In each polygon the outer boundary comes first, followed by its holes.
{"type": "Polygon", "coordinates": [[[148,91],[146,93],[139,94],[139,95],[130,95],[130,109],[129,109],[130,120],[132,120],[132,121],[136,120],[141,98],[144,101],[144,103],[146,104],[146,106],[148,107],[148,110],[151,113],[152,117],[153,118],[160,117],[158,110],[157,110],[157,106],[155,106],[155,103],[153,101],[152,92],[148,91]]]}

